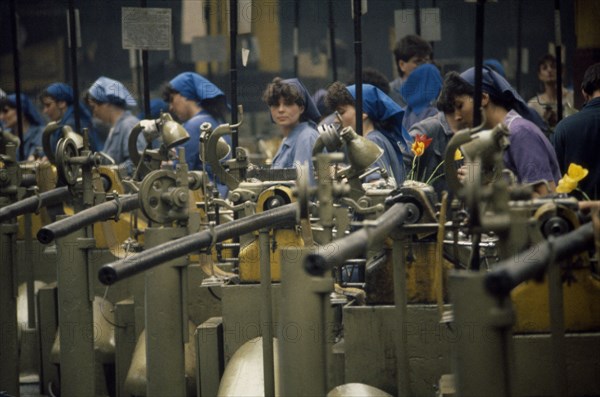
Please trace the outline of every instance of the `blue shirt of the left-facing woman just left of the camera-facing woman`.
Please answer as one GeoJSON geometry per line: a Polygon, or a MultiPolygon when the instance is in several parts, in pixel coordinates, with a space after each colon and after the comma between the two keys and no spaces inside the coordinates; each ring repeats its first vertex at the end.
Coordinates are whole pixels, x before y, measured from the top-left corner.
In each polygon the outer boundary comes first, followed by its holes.
{"type": "MultiPolygon", "coordinates": [[[[190,134],[190,139],[182,146],[185,149],[185,162],[190,170],[203,170],[204,166],[200,160],[200,126],[202,123],[210,123],[213,130],[219,126],[219,122],[211,116],[206,110],[201,110],[194,117],[183,124],[183,128],[190,134]]],[[[223,137],[227,144],[231,146],[231,135],[223,137]]],[[[229,158],[230,156],[228,156],[229,158]]],[[[214,181],[214,175],[210,169],[210,165],[206,165],[206,172],[211,181],[214,181]]],[[[217,190],[221,197],[227,197],[229,188],[220,182],[216,182],[217,190]]]]}

